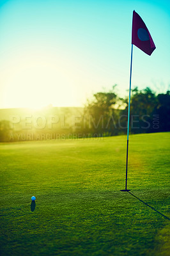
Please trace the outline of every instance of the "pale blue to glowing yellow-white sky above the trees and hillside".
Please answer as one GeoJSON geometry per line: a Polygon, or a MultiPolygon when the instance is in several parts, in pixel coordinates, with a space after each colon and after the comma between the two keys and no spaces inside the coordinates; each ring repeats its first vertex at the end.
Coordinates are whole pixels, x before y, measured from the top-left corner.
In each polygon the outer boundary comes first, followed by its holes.
{"type": "Polygon", "coordinates": [[[170,84],[170,1],[0,0],[0,108],[84,106],[114,84],[128,96],[132,12],[157,47],[134,46],[132,88],[170,84]]]}

